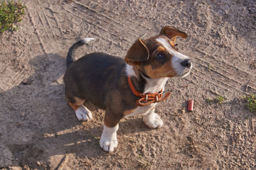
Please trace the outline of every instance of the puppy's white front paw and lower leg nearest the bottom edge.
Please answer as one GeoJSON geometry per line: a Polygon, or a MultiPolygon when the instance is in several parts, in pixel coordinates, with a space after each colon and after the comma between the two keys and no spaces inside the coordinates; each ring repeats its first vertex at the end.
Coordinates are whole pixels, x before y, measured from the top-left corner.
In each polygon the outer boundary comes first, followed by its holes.
{"type": "Polygon", "coordinates": [[[105,152],[113,152],[114,148],[117,147],[117,130],[118,125],[114,128],[104,126],[102,136],[100,137],[100,147],[104,149],[105,152]]]}

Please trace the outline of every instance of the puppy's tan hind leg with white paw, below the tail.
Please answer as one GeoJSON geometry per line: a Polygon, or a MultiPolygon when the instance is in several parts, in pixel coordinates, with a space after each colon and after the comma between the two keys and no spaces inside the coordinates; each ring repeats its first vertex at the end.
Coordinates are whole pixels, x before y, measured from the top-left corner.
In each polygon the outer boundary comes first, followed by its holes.
{"type": "Polygon", "coordinates": [[[78,120],[88,121],[92,119],[92,113],[89,109],[82,105],[85,102],[85,99],[75,97],[75,103],[69,102],[69,105],[74,109],[75,115],[78,117],[78,120]]]}

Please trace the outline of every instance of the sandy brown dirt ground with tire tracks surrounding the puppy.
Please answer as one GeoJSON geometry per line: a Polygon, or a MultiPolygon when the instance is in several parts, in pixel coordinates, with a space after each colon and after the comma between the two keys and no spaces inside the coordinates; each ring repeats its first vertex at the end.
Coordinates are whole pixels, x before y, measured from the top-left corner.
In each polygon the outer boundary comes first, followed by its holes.
{"type": "Polygon", "coordinates": [[[256,115],[242,96],[256,92],[255,0],[23,0],[20,29],[0,45],[0,169],[256,169],[256,115]],[[82,123],[65,101],[65,56],[73,42],[93,37],[76,56],[124,57],[146,33],[174,26],[193,71],[170,79],[171,97],[156,112],[164,127],[141,117],[119,123],[112,154],[99,146],[104,111],[82,123]],[[214,98],[223,96],[222,103],[214,98]],[[187,100],[195,101],[193,112],[187,100]]]}

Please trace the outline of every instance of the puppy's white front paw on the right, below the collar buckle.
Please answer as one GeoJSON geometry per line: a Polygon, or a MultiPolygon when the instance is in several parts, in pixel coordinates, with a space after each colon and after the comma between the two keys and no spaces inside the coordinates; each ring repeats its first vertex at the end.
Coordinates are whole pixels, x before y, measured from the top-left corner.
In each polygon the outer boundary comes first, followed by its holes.
{"type": "Polygon", "coordinates": [[[156,113],[149,113],[143,116],[143,121],[151,129],[160,128],[164,125],[163,120],[156,113]]]}

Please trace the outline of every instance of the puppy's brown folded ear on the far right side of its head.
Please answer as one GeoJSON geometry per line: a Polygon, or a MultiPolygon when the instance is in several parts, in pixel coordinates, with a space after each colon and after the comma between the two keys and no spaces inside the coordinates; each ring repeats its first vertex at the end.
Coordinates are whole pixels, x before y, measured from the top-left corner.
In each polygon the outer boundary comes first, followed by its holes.
{"type": "Polygon", "coordinates": [[[182,32],[181,30],[178,30],[176,28],[173,28],[171,26],[166,26],[166,27],[162,28],[160,31],[160,35],[161,34],[166,35],[169,39],[173,40],[174,43],[176,42],[177,36],[181,36],[182,38],[188,37],[188,35],[186,33],[182,32]]]}

